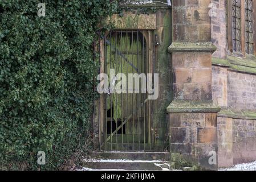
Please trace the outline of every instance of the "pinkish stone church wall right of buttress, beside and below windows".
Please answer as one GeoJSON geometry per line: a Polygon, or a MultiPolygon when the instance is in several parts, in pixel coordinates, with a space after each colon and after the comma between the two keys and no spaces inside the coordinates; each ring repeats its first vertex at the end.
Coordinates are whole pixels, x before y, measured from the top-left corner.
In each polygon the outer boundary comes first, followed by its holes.
{"type": "Polygon", "coordinates": [[[256,160],[256,58],[227,49],[226,1],[212,1],[212,93],[218,113],[218,166],[229,167],[256,160]]]}

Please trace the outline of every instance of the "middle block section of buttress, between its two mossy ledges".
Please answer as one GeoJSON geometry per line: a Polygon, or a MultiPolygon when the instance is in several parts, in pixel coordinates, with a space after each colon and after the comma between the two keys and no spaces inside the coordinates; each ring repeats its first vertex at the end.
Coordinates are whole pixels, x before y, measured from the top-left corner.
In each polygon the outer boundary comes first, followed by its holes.
{"type": "Polygon", "coordinates": [[[173,53],[173,90],[177,100],[212,100],[210,53],[173,53]]]}

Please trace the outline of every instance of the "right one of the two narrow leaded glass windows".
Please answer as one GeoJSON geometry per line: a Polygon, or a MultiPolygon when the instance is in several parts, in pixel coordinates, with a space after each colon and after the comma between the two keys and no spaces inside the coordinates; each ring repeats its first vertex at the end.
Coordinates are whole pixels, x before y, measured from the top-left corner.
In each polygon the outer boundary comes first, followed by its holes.
{"type": "Polygon", "coordinates": [[[245,52],[253,54],[253,0],[245,0],[245,52]]]}

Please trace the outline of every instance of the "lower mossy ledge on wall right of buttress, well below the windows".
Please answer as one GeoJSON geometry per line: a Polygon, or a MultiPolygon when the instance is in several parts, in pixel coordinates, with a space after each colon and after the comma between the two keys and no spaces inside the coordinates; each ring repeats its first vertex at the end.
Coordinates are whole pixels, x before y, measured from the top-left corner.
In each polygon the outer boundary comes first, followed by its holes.
{"type": "Polygon", "coordinates": [[[256,120],[256,111],[235,111],[230,109],[222,109],[220,113],[218,113],[218,117],[256,120]]]}

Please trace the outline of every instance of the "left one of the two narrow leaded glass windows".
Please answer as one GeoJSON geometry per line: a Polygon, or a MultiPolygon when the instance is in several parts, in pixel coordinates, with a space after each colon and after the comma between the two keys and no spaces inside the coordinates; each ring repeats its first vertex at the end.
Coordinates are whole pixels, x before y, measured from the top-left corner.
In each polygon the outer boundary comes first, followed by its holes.
{"type": "Polygon", "coordinates": [[[241,0],[232,0],[233,50],[241,52],[241,0]]]}

